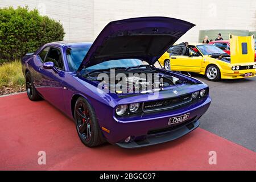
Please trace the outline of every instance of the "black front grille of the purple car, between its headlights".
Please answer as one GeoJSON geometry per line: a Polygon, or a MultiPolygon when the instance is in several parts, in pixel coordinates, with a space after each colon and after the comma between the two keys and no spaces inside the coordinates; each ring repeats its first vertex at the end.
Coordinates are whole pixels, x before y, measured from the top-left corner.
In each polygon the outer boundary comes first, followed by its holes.
{"type": "Polygon", "coordinates": [[[187,94],[187,95],[176,97],[176,98],[168,98],[166,100],[144,102],[142,109],[144,112],[162,110],[162,109],[172,109],[174,107],[187,104],[188,102],[191,102],[191,101],[192,101],[192,94],[187,94]]]}

